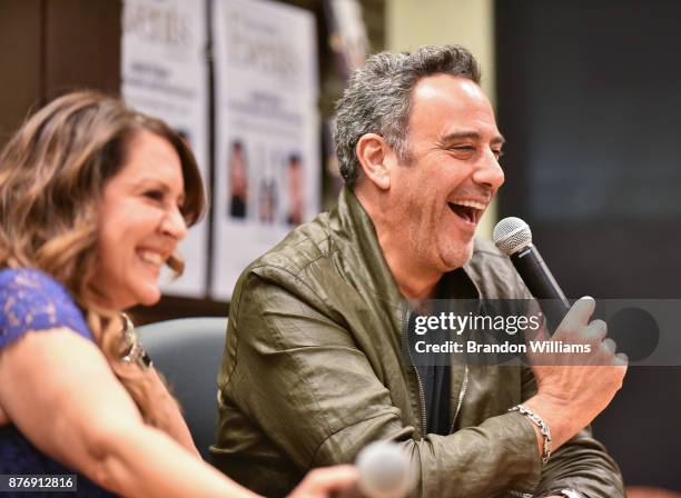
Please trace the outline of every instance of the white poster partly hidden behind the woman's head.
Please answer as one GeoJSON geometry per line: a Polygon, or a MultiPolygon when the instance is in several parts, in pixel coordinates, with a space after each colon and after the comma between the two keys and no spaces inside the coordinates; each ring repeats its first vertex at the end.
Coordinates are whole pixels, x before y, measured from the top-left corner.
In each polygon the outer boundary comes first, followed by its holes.
{"type": "MultiPolygon", "coordinates": [[[[206,9],[196,0],[126,0],[121,47],[122,97],[132,108],[176,129],[191,146],[208,190],[208,68],[206,9]]],[[[179,245],[185,272],[162,276],[165,293],[204,297],[208,222],[179,245]]]]}

